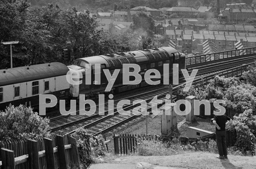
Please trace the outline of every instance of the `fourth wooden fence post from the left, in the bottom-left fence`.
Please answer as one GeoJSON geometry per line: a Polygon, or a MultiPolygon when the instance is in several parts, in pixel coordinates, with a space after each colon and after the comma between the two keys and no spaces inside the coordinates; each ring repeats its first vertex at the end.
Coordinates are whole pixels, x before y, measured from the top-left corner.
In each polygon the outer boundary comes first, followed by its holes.
{"type": "Polygon", "coordinates": [[[64,137],[60,135],[56,135],[55,143],[56,143],[56,146],[58,147],[59,168],[66,169],[67,161],[66,161],[64,137]]]}

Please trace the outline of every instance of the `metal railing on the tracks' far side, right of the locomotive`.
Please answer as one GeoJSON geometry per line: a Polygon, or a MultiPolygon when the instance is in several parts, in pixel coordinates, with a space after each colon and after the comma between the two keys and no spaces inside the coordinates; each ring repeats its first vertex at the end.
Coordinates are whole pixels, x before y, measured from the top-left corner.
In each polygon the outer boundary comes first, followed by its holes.
{"type": "Polygon", "coordinates": [[[237,57],[241,55],[245,55],[245,56],[252,55],[252,54],[256,54],[256,47],[235,49],[235,50],[211,53],[206,55],[190,56],[186,58],[186,66],[190,67],[199,63],[210,62],[210,61],[215,61],[219,59],[232,58],[232,57],[237,57]]]}

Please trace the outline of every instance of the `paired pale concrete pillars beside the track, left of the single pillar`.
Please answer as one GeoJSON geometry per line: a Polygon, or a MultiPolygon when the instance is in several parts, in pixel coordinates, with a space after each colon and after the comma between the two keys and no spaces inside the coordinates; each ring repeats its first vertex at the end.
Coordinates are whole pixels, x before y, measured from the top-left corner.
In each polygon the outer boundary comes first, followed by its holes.
{"type": "Polygon", "coordinates": [[[177,118],[173,107],[176,103],[163,105],[160,110],[163,112],[161,115],[161,133],[162,136],[169,136],[172,131],[177,128],[177,118]]]}

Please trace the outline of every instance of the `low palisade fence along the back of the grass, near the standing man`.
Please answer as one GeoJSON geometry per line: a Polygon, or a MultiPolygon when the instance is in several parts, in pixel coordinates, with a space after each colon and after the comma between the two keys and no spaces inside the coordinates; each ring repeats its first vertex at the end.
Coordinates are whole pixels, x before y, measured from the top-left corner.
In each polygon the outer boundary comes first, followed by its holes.
{"type": "MultiPolygon", "coordinates": [[[[226,144],[228,147],[234,145],[234,140],[232,137],[233,133],[229,130],[226,130],[226,144]]],[[[216,134],[208,134],[199,138],[188,138],[188,137],[172,137],[172,136],[157,136],[157,135],[134,135],[134,134],[123,134],[123,135],[114,135],[114,151],[115,154],[129,154],[137,152],[136,147],[138,146],[140,139],[156,139],[161,141],[171,141],[172,139],[179,139],[181,144],[191,144],[197,141],[207,141],[210,139],[216,140],[216,134]]]]}

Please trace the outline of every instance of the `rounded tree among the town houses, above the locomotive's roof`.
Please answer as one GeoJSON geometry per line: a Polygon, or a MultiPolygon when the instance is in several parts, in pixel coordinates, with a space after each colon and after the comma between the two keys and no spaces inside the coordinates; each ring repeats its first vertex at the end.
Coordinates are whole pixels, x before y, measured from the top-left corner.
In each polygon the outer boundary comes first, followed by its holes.
{"type": "Polygon", "coordinates": [[[133,23],[133,29],[154,31],[154,20],[151,15],[147,15],[144,11],[138,11],[133,15],[133,23]]]}

